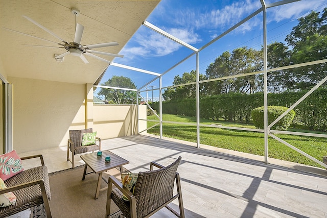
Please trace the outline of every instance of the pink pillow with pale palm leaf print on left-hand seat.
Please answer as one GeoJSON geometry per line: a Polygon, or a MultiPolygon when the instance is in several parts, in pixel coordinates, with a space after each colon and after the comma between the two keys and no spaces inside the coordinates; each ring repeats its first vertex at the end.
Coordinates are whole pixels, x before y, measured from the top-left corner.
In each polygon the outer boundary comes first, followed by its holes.
{"type": "Polygon", "coordinates": [[[24,171],[21,160],[15,150],[0,155],[0,178],[6,181],[10,177],[24,171]]]}

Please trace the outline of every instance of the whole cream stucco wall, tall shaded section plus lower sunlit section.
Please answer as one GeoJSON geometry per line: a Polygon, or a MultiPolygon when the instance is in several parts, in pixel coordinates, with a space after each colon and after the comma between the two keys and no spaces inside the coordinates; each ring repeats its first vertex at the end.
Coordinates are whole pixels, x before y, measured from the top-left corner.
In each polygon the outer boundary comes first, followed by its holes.
{"type": "MultiPolygon", "coordinates": [[[[136,106],[93,105],[90,84],[8,80],[13,84],[13,149],[18,153],[67,146],[68,130],[85,127],[102,139],[137,134],[136,106]]],[[[146,114],[146,107],[141,108],[146,114]]]]}

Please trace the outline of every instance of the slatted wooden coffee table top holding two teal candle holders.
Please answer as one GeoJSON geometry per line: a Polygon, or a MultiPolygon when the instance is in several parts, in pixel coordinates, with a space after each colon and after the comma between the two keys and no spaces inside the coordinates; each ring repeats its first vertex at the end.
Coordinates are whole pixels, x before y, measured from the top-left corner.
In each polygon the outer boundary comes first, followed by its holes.
{"type": "Polygon", "coordinates": [[[102,151],[101,157],[97,156],[97,152],[84,154],[80,157],[85,162],[85,164],[87,164],[96,174],[129,163],[128,160],[125,160],[124,158],[115,155],[110,151],[102,151]],[[106,156],[110,156],[111,159],[108,163],[105,162],[106,156]]]}

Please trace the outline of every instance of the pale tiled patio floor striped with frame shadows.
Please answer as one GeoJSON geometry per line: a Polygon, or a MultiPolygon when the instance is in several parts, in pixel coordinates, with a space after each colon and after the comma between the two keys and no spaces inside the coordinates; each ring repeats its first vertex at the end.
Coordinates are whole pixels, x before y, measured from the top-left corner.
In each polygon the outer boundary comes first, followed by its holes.
{"type": "MultiPolygon", "coordinates": [[[[325,169],[274,159],[265,164],[263,157],[222,153],[207,146],[197,149],[189,142],[145,135],[101,142],[102,150],[129,160],[125,167],[131,172],[147,171],[151,161],[168,165],[181,156],[178,172],[186,217],[327,217],[325,169]]],[[[66,149],[19,155],[42,154],[49,172],[55,172],[72,167],[66,161],[66,149]]],[[[77,157],[75,164],[84,163],[77,157]]],[[[177,201],[172,207],[177,208],[177,201]]],[[[175,216],[162,209],[152,217],[175,216]]]]}

